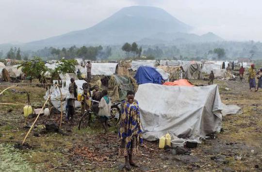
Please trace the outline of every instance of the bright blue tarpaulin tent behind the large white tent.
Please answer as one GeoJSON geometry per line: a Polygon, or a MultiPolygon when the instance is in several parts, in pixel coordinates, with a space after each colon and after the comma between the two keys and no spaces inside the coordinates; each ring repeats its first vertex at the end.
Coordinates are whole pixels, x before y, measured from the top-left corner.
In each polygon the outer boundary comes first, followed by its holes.
{"type": "Polygon", "coordinates": [[[140,66],[134,78],[136,79],[137,84],[161,84],[161,81],[164,80],[155,68],[149,66],[140,66]]]}

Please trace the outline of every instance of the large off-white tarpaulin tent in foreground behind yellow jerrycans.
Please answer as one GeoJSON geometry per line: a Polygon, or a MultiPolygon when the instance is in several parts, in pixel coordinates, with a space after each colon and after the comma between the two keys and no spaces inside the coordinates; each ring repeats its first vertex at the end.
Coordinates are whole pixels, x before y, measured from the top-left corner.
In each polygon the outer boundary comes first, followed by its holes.
{"type": "Polygon", "coordinates": [[[199,141],[219,132],[222,102],[217,85],[139,85],[135,94],[140,108],[143,138],[154,141],[170,133],[199,141]]]}

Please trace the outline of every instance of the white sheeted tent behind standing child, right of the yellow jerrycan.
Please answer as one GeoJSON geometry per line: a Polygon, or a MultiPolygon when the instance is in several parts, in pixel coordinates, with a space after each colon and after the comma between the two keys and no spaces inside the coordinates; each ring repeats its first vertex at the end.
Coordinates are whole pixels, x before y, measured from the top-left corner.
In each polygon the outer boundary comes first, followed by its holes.
{"type": "MultiPolygon", "coordinates": [[[[57,80],[54,80],[53,81],[53,84],[55,84],[56,82],[58,82],[57,80]]],[[[66,82],[66,85],[62,84],[63,86],[61,87],[61,92],[62,92],[62,99],[64,100],[63,103],[62,103],[62,109],[63,109],[63,112],[65,113],[66,112],[66,99],[69,98],[69,84],[70,84],[70,81],[64,81],[66,82]]],[[[76,80],[75,81],[76,85],[77,85],[77,90],[78,90],[78,93],[82,93],[82,85],[83,83],[86,83],[84,80],[76,80]]],[[[61,107],[60,107],[60,99],[61,99],[61,94],[60,94],[60,91],[59,91],[59,88],[56,86],[51,86],[50,87],[50,100],[51,100],[51,103],[52,105],[58,110],[61,112],[61,107]]],[[[49,96],[49,91],[46,92],[46,95],[44,96],[44,99],[47,99],[49,96]]],[[[75,107],[80,107],[81,106],[81,103],[80,101],[75,101],[75,107]]]]}

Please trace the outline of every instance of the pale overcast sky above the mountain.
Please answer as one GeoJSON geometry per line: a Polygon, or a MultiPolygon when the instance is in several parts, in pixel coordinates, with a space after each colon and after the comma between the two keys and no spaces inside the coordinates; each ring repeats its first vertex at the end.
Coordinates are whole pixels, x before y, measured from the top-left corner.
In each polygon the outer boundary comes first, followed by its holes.
{"type": "Polygon", "coordinates": [[[262,0],[0,0],[0,43],[86,29],[132,5],[163,8],[197,34],[262,41],[262,0]]]}

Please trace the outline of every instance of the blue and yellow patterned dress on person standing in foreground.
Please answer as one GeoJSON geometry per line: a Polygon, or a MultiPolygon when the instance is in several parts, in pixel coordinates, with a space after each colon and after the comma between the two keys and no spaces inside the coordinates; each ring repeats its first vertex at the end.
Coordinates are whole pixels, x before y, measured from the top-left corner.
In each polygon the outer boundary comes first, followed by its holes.
{"type": "Polygon", "coordinates": [[[143,143],[143,138],[137,100],[134,100],[133,103],[127,100],[122,102],[118,137],[120,138],[119,156],[140,153],[139,145],[143,143]]]}

